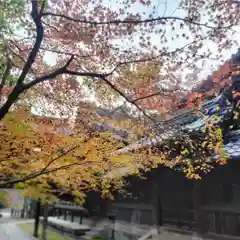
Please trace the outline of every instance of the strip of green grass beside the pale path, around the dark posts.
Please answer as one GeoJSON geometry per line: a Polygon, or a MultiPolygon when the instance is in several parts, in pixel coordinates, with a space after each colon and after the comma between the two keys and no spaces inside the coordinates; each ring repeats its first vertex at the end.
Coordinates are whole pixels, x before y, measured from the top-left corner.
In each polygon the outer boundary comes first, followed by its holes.
{"type": "MultiPolygon", "coordinates": [[[[33,228],[34,225],[33,223],[20,223],[18,224],[18,226],[25,232],[28,233],[29,235],[33,234],[33,228]]],[[[39,237],[38,239],[41,239],[41,233],[42,233],[42,225],[39,225],[39,237]]],[[[68,236],[64,236],[60,233],[51,231],[51,230],[47,230],[47,240],[73,240],[72,238],[68,237],[68,236]]]]}

